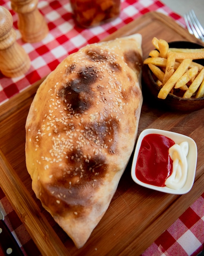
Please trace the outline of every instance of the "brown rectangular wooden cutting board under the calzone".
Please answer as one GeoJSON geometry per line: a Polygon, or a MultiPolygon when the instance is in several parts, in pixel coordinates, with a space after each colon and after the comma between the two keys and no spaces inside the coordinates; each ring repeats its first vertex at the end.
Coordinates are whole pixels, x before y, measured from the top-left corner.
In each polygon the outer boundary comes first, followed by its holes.
{"type": "MultiPolygon", "coordinates": [[[[167,41],[190,40],[201,43],[171,18],[147,13],[114,34],[140,33],[144,58],[154,36],[167,41]]],[[[204,109],[189,114],[166,112],[144,99],[138,135],[145,128],[171,130],[190,136],[197,143],[195,183],[184,195],[145,189],[131,179],[131,161],[118,185],[110,207],[90,239],[81,249],[55,223],[36,199],[25,165],[25,121],[38,81],[0,106],[0,186],[20,216],[42,255],[139,255],[204,192],[204,109]]]]}

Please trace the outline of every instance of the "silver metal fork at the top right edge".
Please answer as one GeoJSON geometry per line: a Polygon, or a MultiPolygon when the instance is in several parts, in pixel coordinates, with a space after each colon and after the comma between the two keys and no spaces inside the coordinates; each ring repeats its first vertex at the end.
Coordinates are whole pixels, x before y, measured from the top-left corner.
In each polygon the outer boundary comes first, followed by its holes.
{"type": "Polygon", "coordinates": [[[193,10],[187,12],[184,15],[184,20],[186,22],[189,33],[204,42],[204,28],[197,19],[195,12],[193,10]]]}

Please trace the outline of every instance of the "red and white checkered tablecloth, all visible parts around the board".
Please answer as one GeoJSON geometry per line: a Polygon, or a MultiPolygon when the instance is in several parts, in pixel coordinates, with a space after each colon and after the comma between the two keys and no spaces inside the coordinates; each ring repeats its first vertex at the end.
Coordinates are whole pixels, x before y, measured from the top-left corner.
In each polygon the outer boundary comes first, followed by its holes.
{"type": "MultiPolygon", "coordinates": [[[[14,94],[29,87],[54,70],[72,52],[87,43],[95,43],[112,34],[125,24],[149,11],[158,11],[171,16],[180,25],[184,20],[169,7],[157,0],[122,0],[121,15],[114,21],[100,27],[81,29],[72,19],[69,0],[39,0],[38,9],[44,15],[49,34],[39,43],[24,43],[17,28],[17,14],[11,10],[11,3],[0,0],[0,5],[11,11],[17,41],[31,59],[31,68],[26,75],[7,78],[0,73],[0,104],[14,94]]],[[[18,241],[24,255],[40,255],[26,228],[13,210],[9,200],[0,189],[0,201],[4,207],[5,222],[18,241]]],[[[143,256],[185,256],[197,255],[204,247],[204,193],[178,218],[152,245],[143,256]]],[[[2,251],[0,249],[0,255],[2,251]]]]}

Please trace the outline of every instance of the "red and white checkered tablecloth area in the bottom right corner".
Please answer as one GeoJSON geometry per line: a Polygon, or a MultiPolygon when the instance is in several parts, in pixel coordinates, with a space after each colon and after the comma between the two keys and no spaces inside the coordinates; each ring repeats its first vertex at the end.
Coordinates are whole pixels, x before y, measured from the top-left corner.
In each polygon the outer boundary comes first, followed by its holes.
{"type": "Polygon", "coordinates": [[[196,256],[204,250],[204,193],[142,256],[196,256]]]}

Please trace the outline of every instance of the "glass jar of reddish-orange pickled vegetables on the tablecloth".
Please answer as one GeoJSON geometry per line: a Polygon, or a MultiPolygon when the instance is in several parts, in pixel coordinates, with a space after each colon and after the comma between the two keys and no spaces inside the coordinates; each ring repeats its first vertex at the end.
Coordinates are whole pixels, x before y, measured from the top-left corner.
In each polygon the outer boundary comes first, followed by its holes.
{"type": "Polygon", "coordinates": [[[110,22],[120,14],[120,0],[70,0],[74,19],[82,27],[110,22]]]}

